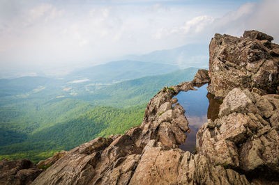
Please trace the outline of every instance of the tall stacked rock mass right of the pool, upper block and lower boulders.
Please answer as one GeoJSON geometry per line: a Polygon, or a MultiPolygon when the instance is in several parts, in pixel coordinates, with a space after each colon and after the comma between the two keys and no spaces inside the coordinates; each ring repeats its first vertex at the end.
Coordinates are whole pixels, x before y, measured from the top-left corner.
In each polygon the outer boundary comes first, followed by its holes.
{"type": "Polygon", "coordinates": [[[225,99],[218,119],[199,129],[197,152],[255,182],[278,183],[279,46],[271,40],[259,31],[211,40],[208,90],[225,99]]]}

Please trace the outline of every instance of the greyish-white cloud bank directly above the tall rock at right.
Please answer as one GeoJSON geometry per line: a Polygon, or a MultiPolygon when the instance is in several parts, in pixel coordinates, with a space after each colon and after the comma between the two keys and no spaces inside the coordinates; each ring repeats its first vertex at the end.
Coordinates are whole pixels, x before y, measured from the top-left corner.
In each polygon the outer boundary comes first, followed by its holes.
{"type": "Polygon", "coordinates": [[[227,33],[241,36],[245,30],[258,30],[272,35],[279,41],[279,1],[264,0],[258,3],[245,3],[237,10],[216,19],[206,27],[209,33],[227,33]]]}

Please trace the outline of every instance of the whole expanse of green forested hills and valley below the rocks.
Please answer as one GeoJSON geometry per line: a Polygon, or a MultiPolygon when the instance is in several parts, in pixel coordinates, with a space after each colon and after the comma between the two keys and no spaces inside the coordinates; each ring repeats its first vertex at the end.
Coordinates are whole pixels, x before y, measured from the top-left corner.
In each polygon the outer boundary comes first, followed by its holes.
{"type": "Polygon", "coordinates": [[[71,84],[72,92],[68,92],[65,79],[30,77],[29,83],[34,80],[36,85],[22,92],[17,88],[20,84],[11,83],[9,94],[0,100],[0,159],[38,162],[97,136],[123,134],[142,122],[145,106],[158,90],[190,81],[195,72],[197,68],[188,68],[96,85],[93,91],[86,90],[84,82],[71,84]]]}

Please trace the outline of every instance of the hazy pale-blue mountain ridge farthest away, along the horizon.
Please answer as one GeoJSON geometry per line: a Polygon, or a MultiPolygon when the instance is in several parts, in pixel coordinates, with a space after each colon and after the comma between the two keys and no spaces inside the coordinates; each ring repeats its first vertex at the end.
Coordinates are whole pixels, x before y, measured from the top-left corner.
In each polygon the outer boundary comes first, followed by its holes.
{"type": "MultiPolygon", "coordinates": [[[[64,67],[47,67],[47,70],[38,70],[36,68],[25,67],[24,69],[5,69],[0,71],[0,78],[18,78],[18,77],[26,77],[26,76],[32,76],[32,77],[65,77],[68,74],[68,77],[70,75],[75,74],[75,77],[83,77],[84,76],[90,77],[90,78],[96,78],[97,81],[98,75],[97,73],[102,72],[104,67],[117,67],[117,65],[127,65],[126,67],[126,73],[123,71],[116,71],[116,69],[112,70],[112,74],[114,72],[119,72],[119,74],[123,75],[124,79],[127,79],[127,75],[130,76],[131,74],[135,75],[133,79],[137,79],[142,76],[142,72],[146,72],[146,74],[149,75],[156,75],[156,74],[164,74],[171,71],[166,71],[166,67],[169,67],[170,69],[178,70],[179,68],[186,68],[186,67],[199,67],[199,68],[206,68],[207,63],[209,61],[209,51],[207,44],[189,44],[184,45],[181,47],[176,47],[174,49],[163,49],[158,51],[152,51],[149,54],[140,54],[140,55],[126,55],[126,56],[120,56],[118,58],[115,58],[115,61],[107,61],[107,63],[104,63],[102,65],[96,65],[93,67],[86,67],[85,70],[73,70],[73,66],[64,66],[64,67]],[[154,64],[155,63],[155,64],[154,64]],[[140,66],[139,66],[140,64],[140,66]],[[163,65],[165,64],[165,65],[163,65]],[[131,69],[131,65],[139,67],[139,71],[133,71],[130,74],[128,73],[128,69],[131,69]],[[96,69],[96,75],[88,75],[87,70],[90,68],[96,69]],[[147,70],[149,69],[149,70],[147,70]],[[152,70],[150,70],[152,69],[152,70]],[[160,70],[164,70],[163,72],[160,70]],[[100,71],[99,71],[100,70],[100,71]],[[83,75],[82,72],[84,72],[83,75]]],[[[93,63],[96,61],[92,61],[93,63]]],[[[100,62],[100,61],[99,61],[100,62]]],[[[87,65],[89,61],[87,62],[87,65]]],[[[101,73],[100,73],[101,74],[101,73]]],[[[112,75],[112,77],[116,77],[116,81],[121,81],[122,76],[117,76],[116,74],[112,75]]],[[[105,77],[105,76],[102,76],[105,77]]],[[[105,77],[104,79],[107,79],[105,77]]],[[[128,79],[131,79],[130,77],[128,79]]]]}

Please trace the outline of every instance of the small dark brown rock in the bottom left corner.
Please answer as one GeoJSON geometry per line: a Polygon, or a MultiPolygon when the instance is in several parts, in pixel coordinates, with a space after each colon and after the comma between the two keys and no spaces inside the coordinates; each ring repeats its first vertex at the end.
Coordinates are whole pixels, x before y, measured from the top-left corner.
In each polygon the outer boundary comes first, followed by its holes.
{"type": "Polygon", "coordinates": [[[27,159],[0,161],[0,184],[31,184],[43,170],[27,159]]]}

